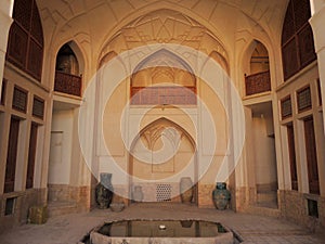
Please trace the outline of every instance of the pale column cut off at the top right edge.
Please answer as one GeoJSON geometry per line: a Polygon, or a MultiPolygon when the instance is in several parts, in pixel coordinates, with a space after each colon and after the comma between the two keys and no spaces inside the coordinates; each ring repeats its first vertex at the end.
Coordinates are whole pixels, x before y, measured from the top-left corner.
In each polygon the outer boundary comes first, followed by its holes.
{"type": "MultiPolygon", "coordinates": [[[[321,3],[320,0],[311,0],[312,5],[312,17],[310,24],[314,34],[315,51],[317,53],[317,64],[321,80],[321,93],[322,101],[325,102],[325,1],[321,3]]],[[[324,131],[325,131],[325,113],[324,118],[324,131]]]]}

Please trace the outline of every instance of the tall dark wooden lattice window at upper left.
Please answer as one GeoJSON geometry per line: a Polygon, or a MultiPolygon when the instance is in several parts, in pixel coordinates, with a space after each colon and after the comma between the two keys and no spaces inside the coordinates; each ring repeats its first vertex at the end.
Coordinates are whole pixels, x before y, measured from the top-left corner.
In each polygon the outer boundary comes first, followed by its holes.
{"type": "Polygon", "coordinates": [[[9,33],[6,60],[40,81],[43,30],[36,1],[15,0],[13,18],[9,33]]]}

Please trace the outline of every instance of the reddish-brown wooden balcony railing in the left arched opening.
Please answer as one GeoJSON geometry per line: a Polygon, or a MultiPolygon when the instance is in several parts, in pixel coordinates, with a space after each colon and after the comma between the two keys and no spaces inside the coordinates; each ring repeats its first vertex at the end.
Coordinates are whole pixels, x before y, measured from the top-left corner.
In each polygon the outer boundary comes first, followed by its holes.
{"type": "Polygon", "coordinates": [[[54,91],[80,97],[81,77],[56,70],[54,91]]]}

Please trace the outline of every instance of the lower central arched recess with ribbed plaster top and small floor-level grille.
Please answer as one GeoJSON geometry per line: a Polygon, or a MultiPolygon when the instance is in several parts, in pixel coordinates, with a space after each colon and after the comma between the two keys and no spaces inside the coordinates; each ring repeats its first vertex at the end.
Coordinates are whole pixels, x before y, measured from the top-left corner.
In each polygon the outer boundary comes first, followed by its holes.
{"type": "Polygon", "coordinates": [[[130,200],[142,189],[143,202],[180,203],[180,179],[190,177],[193,204],[197,204],[196,146],[193,138],[178,124],[159,118],[133,140],[129,157],[130,200]]]}

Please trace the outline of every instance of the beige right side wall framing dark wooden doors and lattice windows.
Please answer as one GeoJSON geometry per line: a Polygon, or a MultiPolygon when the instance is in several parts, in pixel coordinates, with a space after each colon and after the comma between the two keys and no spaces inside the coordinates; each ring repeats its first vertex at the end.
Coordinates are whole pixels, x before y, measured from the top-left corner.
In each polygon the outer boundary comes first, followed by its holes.
{"type": "Polygon", "coordinates": [[[291,97],[292,103],[292,117],[288,119],[280,119],[282,142],[286,145],[287,142],[287,130],[286,125],[288,123],[294,124],[295,129],[295,147],[296,147],[296,164],[298,175],[298,191],[291,189],[291,176],[289,165],[288,147],[283,147],[283,162],[288,164],[283,165],[283,174],[285,179],[285,189],[280,190],[280,209],[282,215],[288,219],[299,221],[301,224],[312,229],[321,230],[325,226],[324,217],[324,168],[322,162],[324,162],[324,130],[323,130],[323,118],[322,118],[322,106],[318,103],[318,91],[317,91],[317,70],[316,62],[313,62],[296,76],[287,80],[283,86],[278,87],[278,101],[287,95],[291,97]],[[297,91],[299,89],[310,86],[312,92],[312,108],[298,113],[297,104],[297,91]],[[321,194],[310,194],[309,189],[309,177],[306,155],[306,138],[303,119],[308,116],[313,116],[314,130],[316,138],[316,152],[317,152],[317,165],[318,165],[318,180],[321,194]],[[318,218],[309,216],[308,201],[312,200],[317,203],[318,218]]]}

